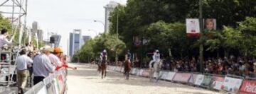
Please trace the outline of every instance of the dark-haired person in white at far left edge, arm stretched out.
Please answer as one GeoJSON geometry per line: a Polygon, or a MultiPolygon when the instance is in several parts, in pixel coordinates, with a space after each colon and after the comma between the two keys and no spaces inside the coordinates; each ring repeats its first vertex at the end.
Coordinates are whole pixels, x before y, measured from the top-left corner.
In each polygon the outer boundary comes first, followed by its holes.
{"type": "Polygon", "coordinates": [[[4,45],[6,45],[6,44],[10,44],[12,42],[12,40],[14,40],[14,36],[11,37],[11,40],[8,40],[7,36],[8,36],[7,30],[2,29],[1,35],[0,35],[0,48],[4,47],[4,45]]]}

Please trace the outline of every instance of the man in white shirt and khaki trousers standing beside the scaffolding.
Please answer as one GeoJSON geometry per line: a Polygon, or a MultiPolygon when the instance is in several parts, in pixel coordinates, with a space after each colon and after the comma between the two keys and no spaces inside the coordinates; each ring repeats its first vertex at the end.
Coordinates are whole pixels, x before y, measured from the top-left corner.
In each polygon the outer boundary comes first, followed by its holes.
{"type": "Polygon", "coordinates": [[[26,49],[22,49],[21,56],[17,58],[18,93],[23,93],[28,78],[28,66],[31,67],[33,60],[26,55],[26,49]]]}

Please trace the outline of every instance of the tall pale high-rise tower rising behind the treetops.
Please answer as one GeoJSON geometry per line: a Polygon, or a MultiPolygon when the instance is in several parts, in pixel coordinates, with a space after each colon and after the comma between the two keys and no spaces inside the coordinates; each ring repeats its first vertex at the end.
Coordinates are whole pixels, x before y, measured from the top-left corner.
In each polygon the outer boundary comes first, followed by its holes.
{"type": "Polygon", "coordinates": [[[110,30],[110,13],[114,11],[114,8],[117,7],[118,3],[115,1],[110,1],[110,4],[104,6],[105,8],[105,32],[109,33],[110,30]]]}

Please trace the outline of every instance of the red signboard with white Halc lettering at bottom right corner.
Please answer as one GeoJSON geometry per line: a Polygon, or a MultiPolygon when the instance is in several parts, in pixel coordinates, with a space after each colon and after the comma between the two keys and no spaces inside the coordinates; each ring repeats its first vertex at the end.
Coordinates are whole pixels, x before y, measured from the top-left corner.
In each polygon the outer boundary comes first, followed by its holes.
{"type": "Polygon", "coordinates": [[[255,94],[256,81],[244,80],[240,88],[240,94],[255,94]]]}

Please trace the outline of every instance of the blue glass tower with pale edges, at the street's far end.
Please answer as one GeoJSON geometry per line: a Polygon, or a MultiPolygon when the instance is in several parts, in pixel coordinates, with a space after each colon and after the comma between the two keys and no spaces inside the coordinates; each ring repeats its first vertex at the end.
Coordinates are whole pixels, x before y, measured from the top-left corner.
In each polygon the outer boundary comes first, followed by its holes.
{"type": "Polygon", "coordinates": [[[70,33],[70,42],[69,42],[69,55],[73,57],[75,52],[77,52],[82,46],[82,31],[80,29],[73,30],[73,33],[70,33]]]}

